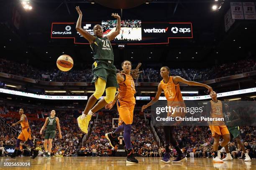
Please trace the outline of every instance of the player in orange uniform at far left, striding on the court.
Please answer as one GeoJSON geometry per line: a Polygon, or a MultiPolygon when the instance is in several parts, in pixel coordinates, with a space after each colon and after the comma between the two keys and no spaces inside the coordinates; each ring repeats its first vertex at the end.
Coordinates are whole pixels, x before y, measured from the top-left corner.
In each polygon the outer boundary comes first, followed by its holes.
{"type": "Polygon", "coordinates": [[[20,147],[20,142],[26,141],[28,143],[28,145],[31,147],[31,155],[33,155],[32,158],[35,159],[38,155],[38,151],[35,150],[35,147],[32,143],[31,129],[29,128],[28,118],[26,117],[26,115],[24,115],[23,108],[20,108],[19,115],[20,115],[20,120],[16,123],[13,123],[12,126],[18,125],[20,123],[20,125],[22,127],[22,131],[21,131],[20,135],[18,136],[18,139],[16,140],[15,150],[14,150],[14,153],[12,155],[10,155],[10,158],[13,158],[13,159],[16,158],[18,149],[20,147]]]}

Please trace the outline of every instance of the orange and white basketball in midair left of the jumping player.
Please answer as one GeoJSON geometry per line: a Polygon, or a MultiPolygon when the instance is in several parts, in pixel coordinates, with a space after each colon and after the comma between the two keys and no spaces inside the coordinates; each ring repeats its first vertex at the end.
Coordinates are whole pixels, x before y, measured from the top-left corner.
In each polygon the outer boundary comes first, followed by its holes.
{"type": "Polygon", "coordinates": [[[66,72],[72,69],[74,62],[72,57],[70,57],[69,55],[61,55],[57,59],[56,64],[59,70],[66,72]]]}

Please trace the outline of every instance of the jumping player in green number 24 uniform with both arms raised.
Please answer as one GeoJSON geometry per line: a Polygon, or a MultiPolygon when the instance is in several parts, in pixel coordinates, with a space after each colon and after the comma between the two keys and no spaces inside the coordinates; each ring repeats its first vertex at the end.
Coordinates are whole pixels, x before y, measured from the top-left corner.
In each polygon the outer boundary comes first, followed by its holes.
{"type": "Polygon", "coordinates": [[[76,10],[79,14],[76,30],[89,41],[95,60],[92,65],[92,73],[94,75],[92,82],[95,83],[95,92],[90,96],[82,115],[77,118],[79,129],[83,133],[88,133],[88,125],[93,113],[112,102],[115,98],[118,82],[116,78],[116,68],[113,65],[114,53],[110,41],[120,33],[121,21],[118,14],[112,13],[112,16],[117,19],[115,31],[103,37],[102,27],[97,24],[93,27],[95,35],[91,35],[81,28],[82,12],[79,7],[76,7],[76,10]],[[105,90],[106,96],[97,102],[105,90]],[[97,104],[95,105],[96,102],[97,104]]]}

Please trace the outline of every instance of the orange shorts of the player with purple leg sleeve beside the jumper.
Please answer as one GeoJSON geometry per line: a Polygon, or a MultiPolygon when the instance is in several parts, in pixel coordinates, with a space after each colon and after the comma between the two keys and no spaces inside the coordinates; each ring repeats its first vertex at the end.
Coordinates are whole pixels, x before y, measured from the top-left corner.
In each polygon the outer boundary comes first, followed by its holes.
{"type": "Polygon", "coordinates": [[[119,119],[118,125],[122,125],[124,122],[126,125],[131,125],[133,123],[133,110],[134,104],[124,102],[124,101],[117,101],[119,119]]]}

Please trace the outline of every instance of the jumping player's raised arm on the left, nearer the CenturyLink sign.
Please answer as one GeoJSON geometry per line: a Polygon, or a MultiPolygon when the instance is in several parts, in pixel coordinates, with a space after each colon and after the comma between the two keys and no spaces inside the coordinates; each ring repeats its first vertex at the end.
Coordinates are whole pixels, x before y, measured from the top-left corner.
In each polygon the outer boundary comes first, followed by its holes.
{"type": "Polygon", "coordinates": [[[96,37],[91,35],[89,32],[87,32],[86,30],[82,29],[81,27],[81,23],[82,23],[82,12],[79,8],[79,6],[76,7],[77,13],[79,14],[78,20],[77,20],[77,25],[76,25],[76,30],[86,39],[90,42],[90,44],[92,44],[93,42],[95,42],[96,37]]]}

